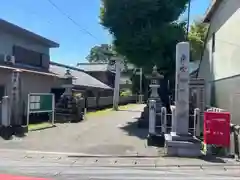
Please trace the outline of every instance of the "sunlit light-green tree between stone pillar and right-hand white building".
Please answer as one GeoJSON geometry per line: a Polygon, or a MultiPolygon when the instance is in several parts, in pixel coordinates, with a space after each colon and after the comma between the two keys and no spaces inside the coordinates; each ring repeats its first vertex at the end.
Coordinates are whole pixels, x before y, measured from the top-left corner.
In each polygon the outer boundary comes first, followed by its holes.
{"type": "Polygon", "coordinates": [[[201,21],[194,21],[190,27],[188,39],[191,44],[191,60],[200,60],[204,41],[207,35],[208,25],[201,21]]]}

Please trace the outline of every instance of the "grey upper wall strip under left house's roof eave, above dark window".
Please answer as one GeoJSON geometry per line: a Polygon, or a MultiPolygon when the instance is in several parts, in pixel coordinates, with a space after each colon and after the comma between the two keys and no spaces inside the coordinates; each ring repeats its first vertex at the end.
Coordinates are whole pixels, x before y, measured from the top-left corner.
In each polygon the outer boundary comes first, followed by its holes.
{"type": "Polygon", "coordinates": [[[8,34],[0,29],[0,54],[12,55],[13,46],[21,46],[26,49],[49,55],[49,48],[34,42],[31,39],[21,38],[14,34],[8,34]]]}

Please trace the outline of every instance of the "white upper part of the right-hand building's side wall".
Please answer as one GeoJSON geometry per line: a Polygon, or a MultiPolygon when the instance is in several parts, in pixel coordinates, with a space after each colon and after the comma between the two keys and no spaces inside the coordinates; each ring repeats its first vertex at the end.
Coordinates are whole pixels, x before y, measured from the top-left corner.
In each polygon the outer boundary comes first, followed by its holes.
{"type": "Polygon", "coordinates": [[[214,13],[199,77],[206,80],[206,103],[210,103],[211,84],[240,74],[240,0],[223,0],[214,13]],[[215,32],[215,53],[212,34],[215,32]]]}

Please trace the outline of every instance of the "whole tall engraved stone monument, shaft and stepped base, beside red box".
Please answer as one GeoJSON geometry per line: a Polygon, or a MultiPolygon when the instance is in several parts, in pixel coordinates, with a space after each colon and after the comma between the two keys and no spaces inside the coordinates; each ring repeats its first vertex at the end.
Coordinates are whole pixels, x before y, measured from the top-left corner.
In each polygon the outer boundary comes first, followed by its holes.
{"type": "Polygon", "coordinates": [[[170,134],[165,134],[165,147],[170,156],[200,156],[201,142],[189,130],[189,54],[188,42],[176,47],[175,117],[170,134]]]}

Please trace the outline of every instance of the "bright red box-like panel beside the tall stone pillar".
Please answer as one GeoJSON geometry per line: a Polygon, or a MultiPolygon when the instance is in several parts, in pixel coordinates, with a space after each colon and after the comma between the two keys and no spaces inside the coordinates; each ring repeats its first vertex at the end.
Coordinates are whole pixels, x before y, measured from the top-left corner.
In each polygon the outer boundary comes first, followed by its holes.
{"type": "Polygon", "coordinates": [[[229,112],[204,112],[204,143],[230,146],[229,112]]]}

